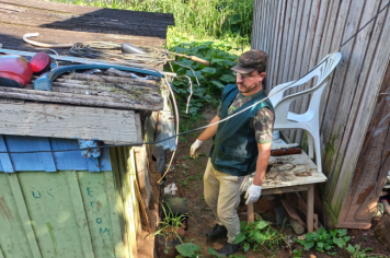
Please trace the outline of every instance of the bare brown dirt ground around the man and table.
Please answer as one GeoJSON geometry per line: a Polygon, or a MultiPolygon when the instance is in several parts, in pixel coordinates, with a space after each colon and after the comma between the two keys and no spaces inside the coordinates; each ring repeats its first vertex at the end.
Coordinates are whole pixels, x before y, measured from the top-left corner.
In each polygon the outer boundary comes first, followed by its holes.
{"type": "MultiPolygon", "coordinates": [[[[209,108],[208,112],[203,114],[203,119],[198,121],[198,125],[195,126],[203,126],[208,124],[208,121],[215,116],[215,110],[209,108]]],[[[208,255],[207,248],[213,247],[214,249],[219,249],[226,244],[225,239],[217,239],[217,241],[209,241],[206,237],[206,233],[209,232],[216,223],[216,220],[213,215],[211,210],[207,207],[204,196],[203,196],[203,175],[206,168],[206,163],[208,160],[208,152],[211,146],[211,140],[206,141],[202,148],[200,155],[196,160],[190,159],[190,148],[191,144],[195,141],[195,139],[199,136],[199,132],[194,132],[191,134],[186,134],[185,141],[180,141],[179,148],[173,160],[173,167],[171,172],[167,176],[165,186],[171,183],[175,183],[177,186],[176,197],[186,197],[187,198],[187,207],[190,209],[190,220],[188,220],[188,231],[185,232],[186,242],[193,239],[194,243],[200,246],[203,249],[204,257],[213,257],[208,255]]],[[[169,155],[167,162],[169,162],[169,155]]],[[[158,186],[156,181],[159,179],[160,174],[156,172],[156,163],[151,164],[152,169],[151,172],[151,183],[153,186],[153,196],[156,203],[159,202],[158,196],[158,186]]],[[[256,207],[255,212],[256,212],[256,207]]],[[[244,221],[246,219],[245,214],[245,206],[242,202],[239,208],[240,220],[244,221]]],[[[262,216],[268,221],[276,221],[275,212],[271,211],[262,216]]],[[[275,228],[279,228],[275,226],[275,228]]],[[[292,228],[288,225],[285,226],[283,233],[286,236],[289,236],[290,243],[292,242],[294,237],[297,235],[294,233],[292,228]]],[[[360,244],[363,248],[372,247],[374,251],[367,253],[369,256],[378,257],[378,256],[389,256],[390,251],[386,250],[386,248],[377,241],[374,235],[374,230],[368,231],[360,231],[360,230],[348,230],[348,235],[352,236],[352,239],[348,244],[355,245],[360,244]]],[[[300,247],[300,245],[291,243],[291,248],[300,247]]],[[[252,250],[243,251],[240,249],[234,255],[248,258],[261,258],[261,257],[290,257],[290,251],[286,246],[280,246],[278,249],[273,249],[273,253],[253,253],[252,250]]],[[[318,251],[305,251],[302,257],[332,257],[326,253],[318,253],[318,251]]],[[[337,254],[333,257],[351,257],[351,255],[346,250],[337,250],[337,254]]]]}

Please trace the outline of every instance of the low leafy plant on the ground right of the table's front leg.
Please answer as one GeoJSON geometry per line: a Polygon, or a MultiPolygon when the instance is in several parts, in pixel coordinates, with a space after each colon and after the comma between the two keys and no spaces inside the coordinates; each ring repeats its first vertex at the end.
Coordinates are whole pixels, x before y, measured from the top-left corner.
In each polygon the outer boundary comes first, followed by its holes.
{"type": "Polygon", "coordinates": [[[318,251],[330,251],[333,247],[339,246],[343,248],[346,243],[351,239],[351,236],[347,236],[346,230],[331,230],[328,233],[323,227],[318,232],[306,234],[305,239],[297,239],[300,245],[305,247],[306,250],[316,247],[318,251]]]}

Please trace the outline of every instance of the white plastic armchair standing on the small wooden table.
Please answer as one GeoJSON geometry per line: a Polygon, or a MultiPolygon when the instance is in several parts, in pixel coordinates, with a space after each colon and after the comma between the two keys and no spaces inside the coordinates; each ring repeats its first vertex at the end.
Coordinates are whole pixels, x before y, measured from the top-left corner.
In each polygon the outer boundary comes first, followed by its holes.
{"type": "Polygon", "coordinates": [[[321,64],[316,68],[313,71],[308,73],[302,79],[289,85],[291,82],[287,82],[280,85],[275,86],[268,94],[269,101],[275,108],[275,125],[274,130],[284,130],[284,129],[302,129],[308,132],[308,146],[309,146],[309,156],[313,159],[313,150],[316,150],[316,161],[318,171],[322,172],[321,165],[321,148],[320,148],[320,103],[321,95],[325,86],[328,85],[330,74],[337,66],[341,60],[341,54],[335,52],[333,55],[328,55],[324,59],[321,60],[321,64]],[[328,59],[326,59],[328,58],[328,59]],[[323,63],[322,60],[326,59],[323,63]],[[316,85],[312,87],[287,95],[283,97],[284,92],[288,89],[302,85],[318,77],[316,85]],[[303,114],[295,114],[288,112],[289,106],[292,101],[312,93],[312,97],[309,104],[309,108],[303,114]],[[275,95],[274,95],[275,94],[275,95]],[[313,148],[314,143],[314,148],[313,148]]]}

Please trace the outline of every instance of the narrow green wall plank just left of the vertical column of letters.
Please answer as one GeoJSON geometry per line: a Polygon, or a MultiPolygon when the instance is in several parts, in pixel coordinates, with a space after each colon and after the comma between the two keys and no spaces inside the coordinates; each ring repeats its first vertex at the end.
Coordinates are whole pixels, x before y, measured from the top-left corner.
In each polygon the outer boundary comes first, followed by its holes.
{"type": "Polygon", "coordinates": [[[83,257],[94,258],[95,255],[93,253],[91,234],[89,231],[89,225],[87,223],[88,220],[83,207],[83,201],[80,192],[80,186],[77,178],[77,174],[74,171],[71,171],[71,172],[66,172],[66,175],[67,175],[71,201],[73,203],[77,224],[79,226],[80,238],[82,239],[81,244],[82,244],[83,257]]]}

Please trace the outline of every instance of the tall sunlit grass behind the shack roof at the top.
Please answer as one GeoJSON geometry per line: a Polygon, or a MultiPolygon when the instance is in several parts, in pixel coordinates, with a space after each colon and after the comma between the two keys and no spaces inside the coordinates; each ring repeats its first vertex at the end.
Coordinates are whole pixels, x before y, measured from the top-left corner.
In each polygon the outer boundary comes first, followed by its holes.
{"type": "Polygon", "coordinates": [[[54,0],[99,8],[173,13],[171,35],[195,38],[241,36],[249,42],[252,31],[253,0],[54,0]]]}

